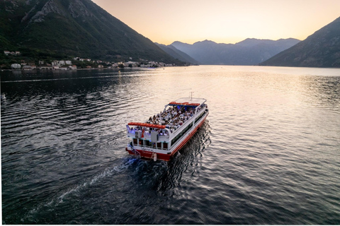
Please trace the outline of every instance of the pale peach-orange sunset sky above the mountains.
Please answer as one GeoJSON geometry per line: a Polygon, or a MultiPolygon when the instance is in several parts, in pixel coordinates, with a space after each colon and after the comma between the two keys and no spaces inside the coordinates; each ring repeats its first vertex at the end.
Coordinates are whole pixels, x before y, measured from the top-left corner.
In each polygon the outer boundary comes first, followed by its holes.
{"type": "Polygon", "coordinates": [[[248,37],[278,40],[309,35],[340,17],[340,0],[93,0],[153,42],[248,37]]]}

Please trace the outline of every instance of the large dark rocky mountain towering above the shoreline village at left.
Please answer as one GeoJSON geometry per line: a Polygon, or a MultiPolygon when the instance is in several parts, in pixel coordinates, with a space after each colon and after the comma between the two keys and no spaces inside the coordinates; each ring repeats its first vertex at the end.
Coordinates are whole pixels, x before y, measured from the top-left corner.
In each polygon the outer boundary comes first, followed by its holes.
{"type": "Polygon", "coordinates": [[[177,62],[91,0],[0,1],[0,50],[177,62]]]}

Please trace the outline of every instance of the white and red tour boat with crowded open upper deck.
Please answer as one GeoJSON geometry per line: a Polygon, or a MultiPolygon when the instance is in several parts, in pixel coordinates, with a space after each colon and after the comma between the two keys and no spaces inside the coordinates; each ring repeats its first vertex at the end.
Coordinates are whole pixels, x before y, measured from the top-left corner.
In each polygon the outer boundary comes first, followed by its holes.
{"type": "Polygon", "coordinates": [[[203,98],[183,97],[165,105],[147,121],[129,122],[130,143],[125,150],[145,160],[169,161],[196,133],[208,117],[203,98]]]}

